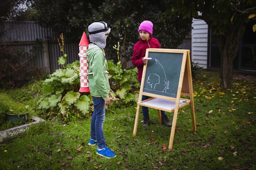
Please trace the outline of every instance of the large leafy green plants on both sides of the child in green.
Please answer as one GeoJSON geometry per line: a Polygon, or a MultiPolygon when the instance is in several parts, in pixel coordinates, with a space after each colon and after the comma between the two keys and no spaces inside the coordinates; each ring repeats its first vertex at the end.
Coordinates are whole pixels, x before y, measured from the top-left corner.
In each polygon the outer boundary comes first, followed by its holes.
{"type": "MultiPolygon", "coordinates": [[[[60,116],[64,121],[71,121],[89,117],[93,109],[92,97],[88,93],[79,93],[79,61],[66,64],[64,51],[64,39],[61,34],[59,42],[62,56],[58,64],[62,69],[56,70],[49,75],[42,83],[41,98],[38,100],[38,108],[47,113],[46,118],[60,116]]],[[[118,62],[115,65],[113,60],[108,61],[111,94],[113,100],[111,105],[125,106],[137,102],[139,83],[137,81],[137,68],[122,69],[119,59],[119,44],[114,46],[117,50],[118,62]]]]}

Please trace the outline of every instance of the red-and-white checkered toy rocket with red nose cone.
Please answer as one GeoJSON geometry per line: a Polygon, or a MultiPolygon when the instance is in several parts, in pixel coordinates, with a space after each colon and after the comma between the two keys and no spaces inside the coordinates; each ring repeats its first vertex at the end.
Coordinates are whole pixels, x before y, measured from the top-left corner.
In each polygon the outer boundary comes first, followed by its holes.
{"type": "Polygon", "coordinates": [[[89,92],[89,81],[87,73],[89,70],[89,63],[87,62],[86,50],[88,49],[89,42],[85,32],[79,43],[79,57],[80,57],[80,89],[79,92],[89,92]]]}

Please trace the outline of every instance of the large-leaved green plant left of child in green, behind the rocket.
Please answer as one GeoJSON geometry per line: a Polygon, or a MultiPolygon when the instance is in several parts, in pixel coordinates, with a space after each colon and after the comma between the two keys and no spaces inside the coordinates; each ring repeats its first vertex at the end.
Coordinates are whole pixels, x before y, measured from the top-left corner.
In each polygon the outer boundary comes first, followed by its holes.
{"type": "Polygon", "coordinates": [[[64,38],[61,34],[59,42],[62,56],[58,64],[63,69],[56,70],[43,81],[41,98],[38,101],[38,108],[47,112],[47,116],[55,116],[57,113],[64,117],[65,121],[77,119],[81,116],[89,116],[90,97],[80,94],[79,87],[79,61],[66,64],[64,51],[64,38]]]}

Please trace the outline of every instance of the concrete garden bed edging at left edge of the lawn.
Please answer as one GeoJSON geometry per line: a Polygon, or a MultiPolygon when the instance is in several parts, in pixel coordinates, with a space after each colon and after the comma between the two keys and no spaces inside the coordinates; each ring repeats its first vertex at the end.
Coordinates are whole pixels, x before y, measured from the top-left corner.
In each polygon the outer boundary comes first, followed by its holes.
{"type": "Polygon", "coordinates": [[[36,125],[39,122],[44,122],[45,121],[44,119],[41,119],[41,118],[36,117],[36,116],[31,116],[31,119],[34,122],[31,122],[31,123],[28,123],[28,124],[25,124],[25,125],[20,125],[20,126],[17,126],[17,127],[12,127],[10,129],[6,129],[6,130],[1,130],[0,131],[0,142],[3,142],[6,139],[9,139],[11,137],[16,136],[19,133],[22,133],[23,131],[28,129],[30,125],[33,125],[33,124],[36,125]]]}

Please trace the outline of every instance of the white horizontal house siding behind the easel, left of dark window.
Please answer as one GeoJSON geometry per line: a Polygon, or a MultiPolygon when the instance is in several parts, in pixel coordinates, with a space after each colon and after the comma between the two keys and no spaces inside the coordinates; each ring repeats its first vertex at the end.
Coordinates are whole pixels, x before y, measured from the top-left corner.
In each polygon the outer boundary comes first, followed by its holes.
{"type": "Polygon", "coordinates": [[[208,26],[204,20],[193,19],[191,41],[192,61],[207,68],[208,26]]]}

